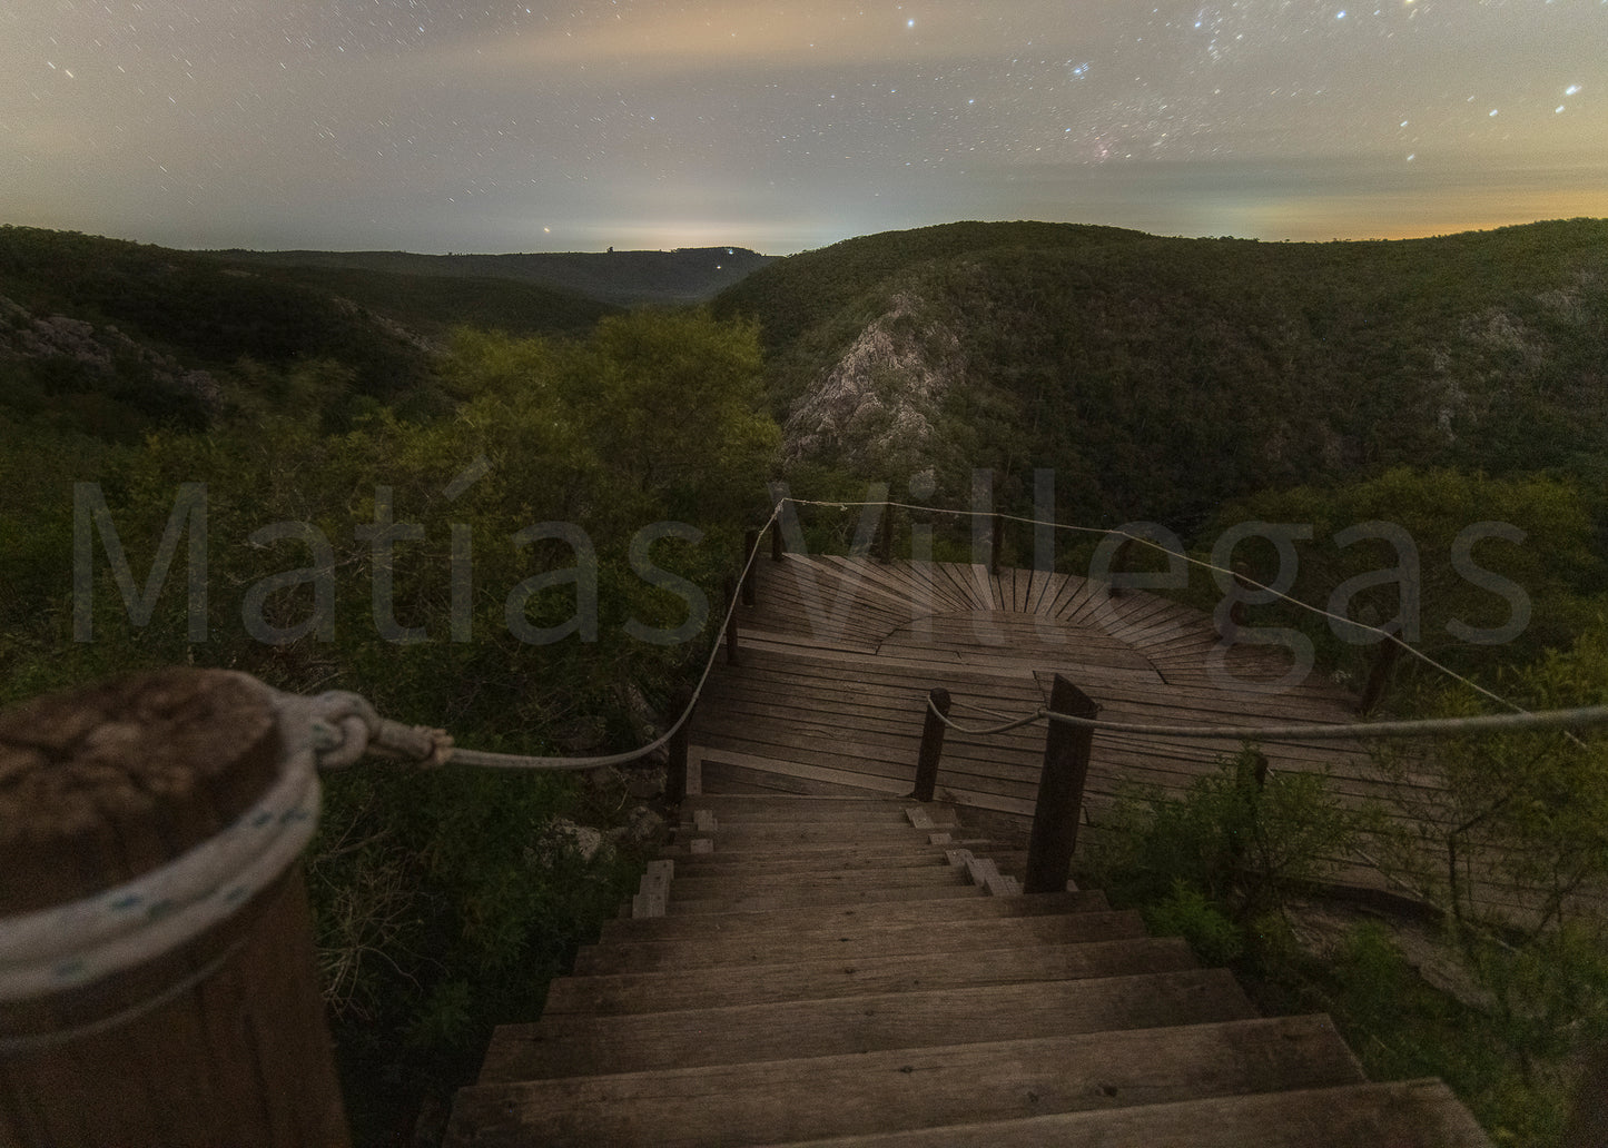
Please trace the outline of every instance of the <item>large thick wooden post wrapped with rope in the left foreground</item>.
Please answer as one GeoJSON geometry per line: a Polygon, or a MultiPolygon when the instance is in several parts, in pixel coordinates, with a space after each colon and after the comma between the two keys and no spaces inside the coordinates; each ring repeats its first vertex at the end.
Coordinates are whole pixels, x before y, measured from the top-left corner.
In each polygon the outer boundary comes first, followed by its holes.
{"type": "Polygon", "coordinates": [[[0,714],[0,950],[34,949],[0,952],[0,1143],[347,1143],[301,863],[217,852],[281,831],[283,757],[273,703],[224,670],[0,714]]]}

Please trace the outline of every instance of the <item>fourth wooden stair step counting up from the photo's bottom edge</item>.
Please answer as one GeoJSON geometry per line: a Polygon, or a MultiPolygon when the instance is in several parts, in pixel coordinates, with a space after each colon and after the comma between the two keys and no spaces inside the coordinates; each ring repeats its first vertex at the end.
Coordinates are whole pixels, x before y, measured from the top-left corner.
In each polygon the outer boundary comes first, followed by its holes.
{"type": "Polygon", "coordinates": [[[862,997],[886,992],[1077,981],[1196,968],[1180,937],[976,949],[970,952],[788,960],[777,965],[680,968],[669,973],[564,976],[548,987],[544,1016],[664,1013],[775,1000],[862,997]]]}

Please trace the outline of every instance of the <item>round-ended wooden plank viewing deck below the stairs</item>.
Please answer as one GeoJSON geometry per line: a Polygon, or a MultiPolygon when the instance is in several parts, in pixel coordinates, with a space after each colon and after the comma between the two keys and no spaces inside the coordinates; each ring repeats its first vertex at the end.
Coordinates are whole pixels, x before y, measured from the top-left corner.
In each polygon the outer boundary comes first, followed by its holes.
{"type": "MultiPolygon", "coordinates": [[[[1278,687],[1278,653],[1222,656],[1211,621],[1148,593],[1111,598],[1089,579],[933,563],[783,556],[757,564],[757,603],[738,611],[741,664],[720,666],[693,719],[693,756],[720,777],[790,793],[910,791],[928,690],[952,717],[1047,704],[1066,675],[1116,722],[1254,725],[1354,720],[1356,698],[1317,677],[1278,687]]],[[[1180,791],[1233,743],[1098,735],[1092,815],[1124,781],[1180,791]]],[[[1264,746],[1275,770],[1327,770],[1341,793],[1388,791],[1367,756],[1335,744],[1264,746]]],[[[1029,815],[1044,725],[1005,735],[950,730],[942,797],[1029,815]]]]}

